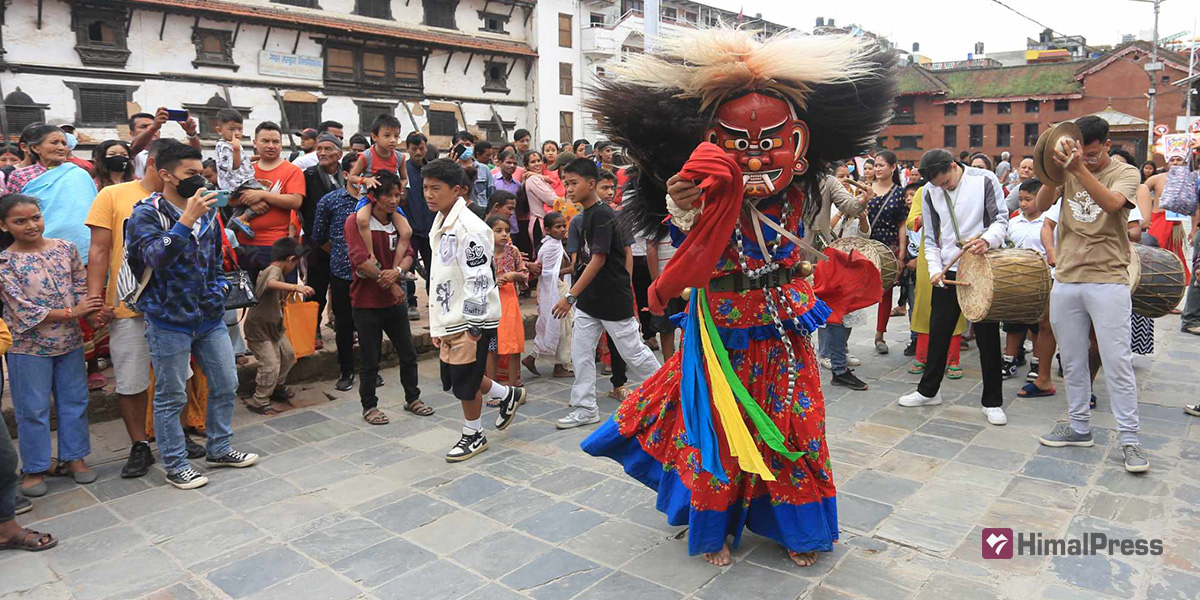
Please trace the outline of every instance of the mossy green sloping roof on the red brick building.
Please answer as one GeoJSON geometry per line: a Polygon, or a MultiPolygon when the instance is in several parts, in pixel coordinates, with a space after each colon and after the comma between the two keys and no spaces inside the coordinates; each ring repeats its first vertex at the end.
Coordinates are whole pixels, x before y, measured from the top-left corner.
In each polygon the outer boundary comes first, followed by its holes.
{"type": "Polygon", "coordinates": [[[1050,62],[997,68],[940,71],[949,86],[944,100],[1030,100],[1078,97],[1084,86],[1075,80],[1075,62],[1050,62]]]}

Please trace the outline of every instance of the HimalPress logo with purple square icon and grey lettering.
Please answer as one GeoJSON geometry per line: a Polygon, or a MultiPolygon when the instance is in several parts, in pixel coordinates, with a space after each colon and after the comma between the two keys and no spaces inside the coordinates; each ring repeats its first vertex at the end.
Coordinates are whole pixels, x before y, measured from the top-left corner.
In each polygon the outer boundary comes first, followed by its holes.
{"type": "Polygon", "coordinates": [[[983,557],[985,559],[1004,559],[1019,556],[1159,556],[1163,553],[1163,540],[1122,540],[1109,538],[1103,533],[1085,533],[1081,538],[1057,539],[1045,538],[1040,533],[1013,533],[1007,527],[986,527],[983,530],[983,557]]]}

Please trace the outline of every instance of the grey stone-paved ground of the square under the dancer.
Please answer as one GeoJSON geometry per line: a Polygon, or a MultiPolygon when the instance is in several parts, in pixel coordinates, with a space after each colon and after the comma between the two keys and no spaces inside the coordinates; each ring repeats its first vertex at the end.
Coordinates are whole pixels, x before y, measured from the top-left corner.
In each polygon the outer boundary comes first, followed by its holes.
{"type": "Polygon", "coordinates": [[[527,379],[518,421],[490,432],[485,455],[449,466],[457,407],[432,391],[425,362],[436,418],[398,410],[395,371],[380,390],[394,419],[385,427],[366,425],[352,395],[311,385],[300,395],[311,406],[286,415],[239,409],[236,445],[264,461],[214,473],[194,492],[166,487],[157,469],[116,478],[120,425],[96,425],[101,480],[56,481],[22,518],[62,542],[0,553],[0,599],[1195,599],[1200,420],[1178,407],[1200,397],[1200,340],[1177,323],[1159,319],[1158,354],[1136,359],[1153,462],[1141,476],[1121,468],[1103,384],[1100,443],[1042,448],[1037,436],[1063,416],[1061,394],[1006,401],[1009,425],[988,426],[971,352],[944,406],[901,409],[896,396],[916,382],[905,332],[889,334],[893,353],[881,358],[856,332],[871,390],[826,390],[841,544],[810,569],[751,534],[730,568],[689,558],[684,529],[665,524],[649,491],[583,455],[587,431],[554,428],[569,397],[562,380],[527,379]],[[983,560],[985,526],[1162,538],[1165,553],[983,560]]]}

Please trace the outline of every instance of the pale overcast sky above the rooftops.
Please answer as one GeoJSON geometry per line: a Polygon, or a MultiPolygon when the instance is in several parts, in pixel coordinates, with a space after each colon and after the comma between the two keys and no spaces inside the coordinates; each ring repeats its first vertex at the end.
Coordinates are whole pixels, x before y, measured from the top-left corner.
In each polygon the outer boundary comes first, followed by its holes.
{"type": "MultiPolygon", "coordinates": [[[[886,36],[898,48],[912,49],[934,60],[961,60],[983,42],[985,52],[1024,50],[1027,37],[1042,30],[994,0],[925,2],[895,0],[700,0],[746,14],[810,30],[817,17],[833,17],[839,25],[854,23],[886,36]]],[[[1066,35],[1082,35],[1088,44],[1117,44],[1122,34],[1138,35],[1154,25],[1153,5],[1134,0],[1002,0],[1046,26],[1066,35]]],[[[1166,0],[1162,4],[1158,31],[1168,36],[1192,30],[1200,20],[1200,0],[1166,0]]],[[[1200,59],[1198,59],[1200,60],[1200,59]]]]}

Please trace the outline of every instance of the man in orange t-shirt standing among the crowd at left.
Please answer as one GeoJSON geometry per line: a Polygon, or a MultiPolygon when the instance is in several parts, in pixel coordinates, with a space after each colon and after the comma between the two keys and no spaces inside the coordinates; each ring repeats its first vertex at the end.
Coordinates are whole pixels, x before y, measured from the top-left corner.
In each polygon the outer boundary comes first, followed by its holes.
{"type": "Polygon", "coordinates": [[[251,280],[271,262],[271,245],[288,236],[292,212],[304,202],[304,172],[283,160],[283,133],[280,126],[263,121],[254,127],[254,176],[265,190],[246,190],[233,205],[250,205],[260,216],[251,221],[254,239],[238,234],[238,260],[250,271],[251,280]]]}

